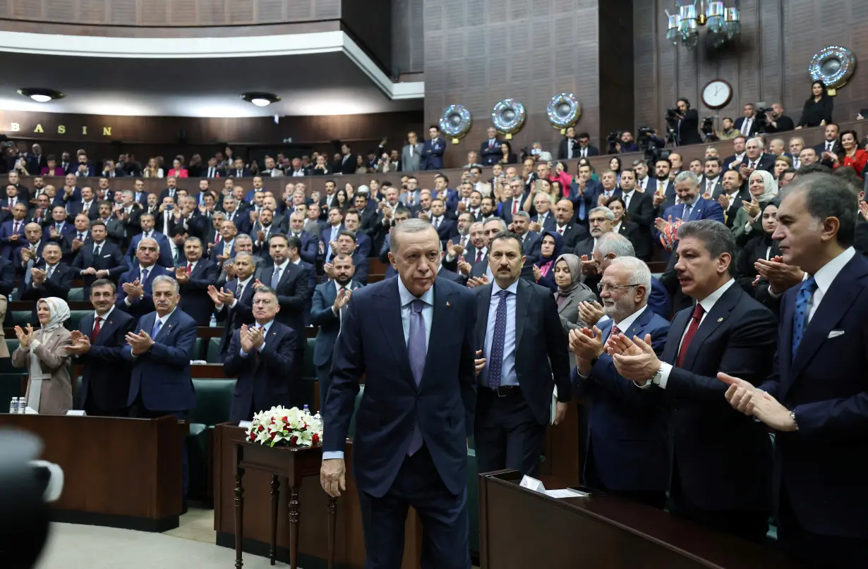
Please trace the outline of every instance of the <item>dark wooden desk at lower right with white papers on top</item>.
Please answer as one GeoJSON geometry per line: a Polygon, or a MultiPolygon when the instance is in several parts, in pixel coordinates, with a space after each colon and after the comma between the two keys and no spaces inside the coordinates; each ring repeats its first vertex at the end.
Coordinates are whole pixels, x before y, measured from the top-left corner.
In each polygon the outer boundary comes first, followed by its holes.
{"type": "Polygon", "coordinates": [[[481,569],[799,567],[773,549],[644,504],[614,495],[554,499],[519,481],[514,470],[479,476],[481,569]]]}

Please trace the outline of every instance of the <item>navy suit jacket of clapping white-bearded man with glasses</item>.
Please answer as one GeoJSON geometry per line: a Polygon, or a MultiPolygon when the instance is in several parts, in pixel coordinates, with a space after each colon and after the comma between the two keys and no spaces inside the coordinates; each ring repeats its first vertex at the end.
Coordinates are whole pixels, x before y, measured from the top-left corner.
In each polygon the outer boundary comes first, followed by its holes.
{"type": "MultiPolygon", "coordinates": [[[[612,332],[611,318],[599,324],[603,343],[612,332]]],[[[669,323],[654,314],[650,307],[639,315],[627,337],[642,339],[651,335],[658,356],[666,344],[669,323]]],[[[662,405],[662,393],[638,389],[636,384],[618,375],[612,356],[603,353],[587,378],[573,369],[573,384],[588,409],[589,454],[602,482],[615,490],[667,490],[668,410],[662,405]]]]}

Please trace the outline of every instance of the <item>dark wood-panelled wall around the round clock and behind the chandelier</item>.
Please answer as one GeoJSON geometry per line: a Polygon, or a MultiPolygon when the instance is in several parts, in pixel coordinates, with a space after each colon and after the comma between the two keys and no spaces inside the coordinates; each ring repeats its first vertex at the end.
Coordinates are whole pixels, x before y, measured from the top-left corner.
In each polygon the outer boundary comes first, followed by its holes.
{"type": "MultiPolygon", "coordinates": [[[[851,49],[858,62],[868,62],[868,18],[859,0],[743,0],[741,34],[722,49],[674,47],[666,41],[664,9],[668,0],[634,2],[635,122],[663,127],[667,107],[678,97],[689,99],[700,116],[737,118],[747,102],[780,102],[786,114],[799,120],[810,95],[807,67],[811,57],[828,45],[851,49]],[[720,111],[705,108],[700,89],[712,79],[733,85],[733,101],[720,111]]],[[[700,30],[705,35],[705,30],[700,30]]],[[[701,40],[700,40],[701,42],[701,40]]],[[[868,108],[868,73],[856,71],[838,90],[836,121],[852,120],[868,108]]]]}

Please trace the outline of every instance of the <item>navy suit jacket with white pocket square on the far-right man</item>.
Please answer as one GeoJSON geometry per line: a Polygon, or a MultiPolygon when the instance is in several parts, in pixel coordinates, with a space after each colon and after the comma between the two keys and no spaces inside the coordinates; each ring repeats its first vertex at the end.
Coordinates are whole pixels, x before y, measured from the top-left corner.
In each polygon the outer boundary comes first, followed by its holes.
{"type": "Polygon", "coordinates": [[[781,298],[776,370],[759,386],[795,412],[775,438],[774,487],[808,532],[868,535],[868,260],[858,252],[832,281],[792,356],[799,287],[781,298]]]}

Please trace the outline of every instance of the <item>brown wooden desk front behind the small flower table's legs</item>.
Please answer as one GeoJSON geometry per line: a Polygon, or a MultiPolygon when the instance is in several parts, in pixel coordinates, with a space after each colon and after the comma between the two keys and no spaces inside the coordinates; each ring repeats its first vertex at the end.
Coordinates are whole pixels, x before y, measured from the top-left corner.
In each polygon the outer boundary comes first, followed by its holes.
{"type": "MultiPolygon", "coordinates": [[[[244,429],[235,423],[222,423],[214,428],[214,530],[218,546],[235,547],[235,476],[233,441],[244,438],[244,429]]],[[[334,559],[335,566],[345,569],[363,569],[365,541],[362,536],[362,513],[358,504],[358,491],[352,477],[352,443],[345,448],[347,464],[346,491],[337,500],[334,559]]],[[[260,470],[244,474],[244,509],[241,513],[244,538],[241,548],[245,553],[269,557],[271,550],[272,475],[260,470]]],[[[277,540],[275,557],[289,563],[289,504],[278,500],[277,540]]],[[[299,523],[299,566],[325,567],[328,559],[329,497],[319,486],[319,465],[311,479],[299,487],[298,502],[304,511],[299,523]]],[[[404,532],[404,561],[402,569],[419,569],[422,550],[422,526],[412,511],[407,516],[404,532]]]]}

